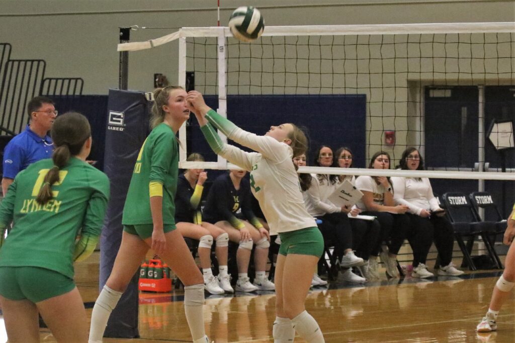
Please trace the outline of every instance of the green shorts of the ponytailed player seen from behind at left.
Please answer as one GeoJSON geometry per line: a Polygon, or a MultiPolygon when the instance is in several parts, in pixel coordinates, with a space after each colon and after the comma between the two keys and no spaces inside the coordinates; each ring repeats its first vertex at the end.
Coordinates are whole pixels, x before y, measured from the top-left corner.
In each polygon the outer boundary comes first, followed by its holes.
{"type": "Polygon", "coordinates": [[[0,295],[10,300],[37,303],[66,294],[75,288],[73,279],[41,267],[0,267],[0,295]]]}

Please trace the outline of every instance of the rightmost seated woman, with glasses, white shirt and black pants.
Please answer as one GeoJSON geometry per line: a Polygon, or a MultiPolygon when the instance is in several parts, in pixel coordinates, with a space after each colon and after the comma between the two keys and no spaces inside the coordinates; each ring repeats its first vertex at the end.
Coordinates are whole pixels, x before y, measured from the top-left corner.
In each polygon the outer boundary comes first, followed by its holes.
{"type": "MultiPolygon", "coordinates": [[[[398,166],[403,170],[424,170],[424,160],[415,148],[407,148],[398,166]]],[[[394,201],[409,207],[406,215],[410,225],[408,241],[413,248],[413,276],[432,277],[425,265],[427,254],[435,242],[441,266],[438,275],[458,276],[463,274],[452,263],[454,233],[445,211],[438,205],[433,188],[427,177],[392,177],[394,201]]]]}

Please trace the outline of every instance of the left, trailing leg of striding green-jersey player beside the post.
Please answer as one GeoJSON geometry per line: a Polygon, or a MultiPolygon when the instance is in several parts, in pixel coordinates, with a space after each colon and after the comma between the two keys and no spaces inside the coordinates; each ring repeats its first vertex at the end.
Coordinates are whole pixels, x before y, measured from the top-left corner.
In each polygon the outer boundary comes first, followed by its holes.
{"type": "Polygon", "coordinates": [[[90,342],[102,341],[111,312],[116,307],[118,300],[122,297],[148,251],[148,245],[138,236],[137,232],[129,233],[126,229],[131,230],[133,226],[124,228],[122,243],[114,260],[111,275],[95,301],[95,306],[93,306],[90,342]]]}

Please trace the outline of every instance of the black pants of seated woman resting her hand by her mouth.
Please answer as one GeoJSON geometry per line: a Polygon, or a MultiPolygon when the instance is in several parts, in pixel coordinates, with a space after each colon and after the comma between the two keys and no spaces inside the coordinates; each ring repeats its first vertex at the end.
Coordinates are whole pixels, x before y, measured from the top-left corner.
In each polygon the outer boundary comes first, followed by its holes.
{"type": "Polygon", "coordinates": [[[372,250],[372,255],[378,256],[381,245],[385,242],[388,245],[390,254],[397,255],[409,229],[409,219],[405,214],[392,214],[389,212],[365,211],[364,215],[373,215],[381,226],[379,240],[372,250]]]}

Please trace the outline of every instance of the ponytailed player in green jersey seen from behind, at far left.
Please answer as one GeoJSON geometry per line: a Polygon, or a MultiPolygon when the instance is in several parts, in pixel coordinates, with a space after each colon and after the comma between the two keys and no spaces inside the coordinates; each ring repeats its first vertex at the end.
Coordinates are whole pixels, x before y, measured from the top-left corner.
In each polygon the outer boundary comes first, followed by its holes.
{"type": "Polygon", "coordinates": [[[0,302],[10,342],[39,342],[38,311],[59,342],[86,342],[88,318],[73,281],[73,262],[94,250],[104,222],[109,179],[86,163],[88,119],[59,116],[56,149],[16,175],[0,204],[0,302]],[[75,244],[77,233],[80,240],[75,244]]]}

